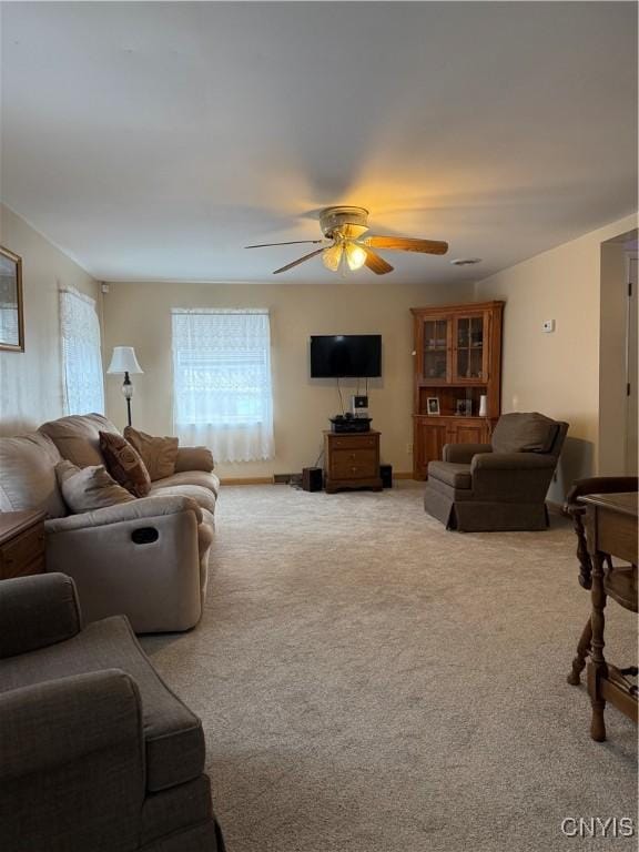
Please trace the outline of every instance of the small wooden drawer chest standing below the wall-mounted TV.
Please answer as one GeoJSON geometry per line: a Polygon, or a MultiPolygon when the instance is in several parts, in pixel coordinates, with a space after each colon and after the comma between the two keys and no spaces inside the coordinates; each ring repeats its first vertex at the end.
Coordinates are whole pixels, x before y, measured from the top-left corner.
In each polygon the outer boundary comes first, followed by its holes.
{"type": "Polygon", "coordinates": [[[379,433],[324,433],[324,477],[327,494],[341,488],[382,490],[379,433]]]}

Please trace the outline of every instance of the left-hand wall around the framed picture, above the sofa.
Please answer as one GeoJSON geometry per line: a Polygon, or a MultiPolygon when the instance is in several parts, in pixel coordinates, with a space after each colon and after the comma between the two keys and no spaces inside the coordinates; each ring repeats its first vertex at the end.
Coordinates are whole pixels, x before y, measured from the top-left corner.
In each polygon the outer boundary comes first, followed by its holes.
{"type": "Polygon", "coordinates": [[[0,352],[0,434],[62,415],[58,291],[71,285],[99,297],[78,264],[0,205],[0,244],[22,257],[24,352],[0,352]]]}

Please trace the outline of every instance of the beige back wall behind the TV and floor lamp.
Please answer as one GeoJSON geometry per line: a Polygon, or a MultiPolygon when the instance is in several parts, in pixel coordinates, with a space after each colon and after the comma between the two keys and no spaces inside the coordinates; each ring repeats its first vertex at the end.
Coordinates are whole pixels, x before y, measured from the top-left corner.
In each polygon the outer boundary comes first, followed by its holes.
{"type": "MultiPolygon", "coordinates": [[[[471,285],[406,286],[396,281],[329,285],[112,283],[104,296],[105,353],[135,346],[143,376],[134,377],[133,423],[171,434],[171,308],[266,307],[271,312],[276,456],[265,463],[222,465],[225,477],[298,473],[313,465],[322,430],[339,410],[335,383],[308,377],[312,334],[382,334],[383,378],[369,381],[373,426],[382,432],[383,460],[412,469],[413,328],[410,307],[471,301],[471,285]]],[[[354,393],[344,379],[344,398],[354,393]]],[[[120,379],[106,377],[106,412],[122,426],[120,379]]]]}

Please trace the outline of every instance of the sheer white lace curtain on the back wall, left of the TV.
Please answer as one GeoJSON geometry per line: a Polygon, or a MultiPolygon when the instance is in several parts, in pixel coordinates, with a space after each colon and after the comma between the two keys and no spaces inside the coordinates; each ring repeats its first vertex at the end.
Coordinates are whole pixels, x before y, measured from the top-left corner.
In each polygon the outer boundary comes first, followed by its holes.
{"type": "Polygon", "coordinates": [[[173,428],[219,462],[273,458],[267,311],[172,312],[173,428]]]}

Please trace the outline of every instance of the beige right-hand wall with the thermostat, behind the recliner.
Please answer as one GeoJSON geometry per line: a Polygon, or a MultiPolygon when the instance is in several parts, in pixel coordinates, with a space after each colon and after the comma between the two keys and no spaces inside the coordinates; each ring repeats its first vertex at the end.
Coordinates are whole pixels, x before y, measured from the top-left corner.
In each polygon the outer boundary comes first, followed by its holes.
{"type": "Polygon", "coordinates": [[[570,424],[550,497],[598,470],[601,243],[637,226],[628,216],[475,285],[504,298],[503,410],[538,410],[570,424]],[[556,321],[545,334],[545,320],[556,321]]]}

